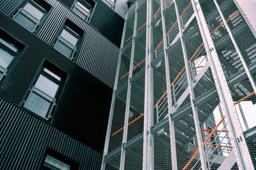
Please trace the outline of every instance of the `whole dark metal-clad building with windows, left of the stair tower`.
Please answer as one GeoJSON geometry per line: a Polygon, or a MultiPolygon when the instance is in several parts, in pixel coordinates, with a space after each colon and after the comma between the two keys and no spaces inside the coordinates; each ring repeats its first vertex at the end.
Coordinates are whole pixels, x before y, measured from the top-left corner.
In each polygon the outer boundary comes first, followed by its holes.
{"type": "Polygon", "coordinates": [[[113,3],[0,1],[0,169],[100,169],[126,5],[113,3]]]}

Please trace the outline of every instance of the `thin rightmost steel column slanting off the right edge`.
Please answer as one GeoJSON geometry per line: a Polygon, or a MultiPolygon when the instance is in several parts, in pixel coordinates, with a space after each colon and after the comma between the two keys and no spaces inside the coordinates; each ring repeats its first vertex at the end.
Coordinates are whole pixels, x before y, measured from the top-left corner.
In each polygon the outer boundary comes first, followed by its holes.
{"type": "Polygon", "coordinates": [[[248,76],[248,79],[249,79],[249,81],[250,81],[250,83],[252,85],[252,89],[253,89],[253,91],[255,92],[255,95],[256,95],[255,82],[253,81],[252,75],[250,74],[250,71],[249,71],[248,67],[246,66],[246,62],[245,62],[245,60],[243,58],[243,55],[242,55],[241,51],[239,50],[239,47],[236,44],[236,40],[234,39],[234,36],[233,36],[233,34],[232,34],[231,30],[230,30],[230,27],[227,24],[226,18],[224,17],[222,11],[220,10],[220,6],[218,5],[216,0],[214,0],[214,3],[215,3],[215,5],[216,5],[216,7],[217,7],[217,9],[218,9],[218,11],[220,13],[221,19],[223,20],[223,23],[224,23],[224,25],[225,25],[225,27],[227,29],[228,35],[230,36],[230,39],[231,39],[234,47],[236,48],[236,52],[237,52],[237,54],[239,56],[239,59],[241,60],[241,62],[243,64],[245,73],[248,76]]]}

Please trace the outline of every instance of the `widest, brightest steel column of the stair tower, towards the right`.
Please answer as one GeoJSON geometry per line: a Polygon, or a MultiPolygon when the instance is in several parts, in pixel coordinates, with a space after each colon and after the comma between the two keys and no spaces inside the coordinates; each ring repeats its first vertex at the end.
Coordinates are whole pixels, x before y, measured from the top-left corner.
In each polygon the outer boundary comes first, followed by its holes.
{"type": "Polygon", "coordinates": [[[202,12],[200,3],[198,0],[191,0],[191,2],[196,14],[196,20],[198,22],[200,33],[204,41],[205,51],[207,53],[209,62],[211,63],[212,76],[216,83],[218,96],[220,97],[221,110],[223,111],[223,115],[225,115],[229,123],[227,124],[227,127],[228,130],[230,130],[229,132],[232,134],[230,135],[230,138],[232,139],[231,141],[233,141],[235,146],[234,151],[236,153],[237,166],[239,169],[254,169],[252,159],[244,139],[243,131],[241,129],[241,125],[238,122],[234,101],[232,100],[230,90],[228,89],[227,80],[221,67],[220,60],[218,59],[218,54],[215,50],[215,46],[211,38],[211,33],[205,22],[205,17],[202,12]]]}

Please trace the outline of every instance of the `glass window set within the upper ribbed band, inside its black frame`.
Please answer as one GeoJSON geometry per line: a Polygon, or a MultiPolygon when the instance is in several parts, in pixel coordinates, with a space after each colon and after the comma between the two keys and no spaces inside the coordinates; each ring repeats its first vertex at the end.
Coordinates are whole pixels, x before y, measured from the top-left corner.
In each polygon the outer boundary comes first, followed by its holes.
{"type": "Polygon", "coordinates": [[[68,59],[73,60],[80,39],[81,31],[77,31],[77,29],[70,24],[65,24],[54,44],[54,48],[68,57],[68,59]]]}

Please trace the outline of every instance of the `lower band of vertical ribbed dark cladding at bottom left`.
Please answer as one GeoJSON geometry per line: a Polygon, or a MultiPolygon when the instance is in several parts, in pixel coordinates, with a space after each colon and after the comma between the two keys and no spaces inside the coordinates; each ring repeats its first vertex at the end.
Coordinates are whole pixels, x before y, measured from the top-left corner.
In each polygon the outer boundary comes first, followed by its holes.
{"type": "Polygon", "coordinates": [[[0,169],[39,169],[47,147],[99,169],[101,154],[0,98],[0,169]]]}

